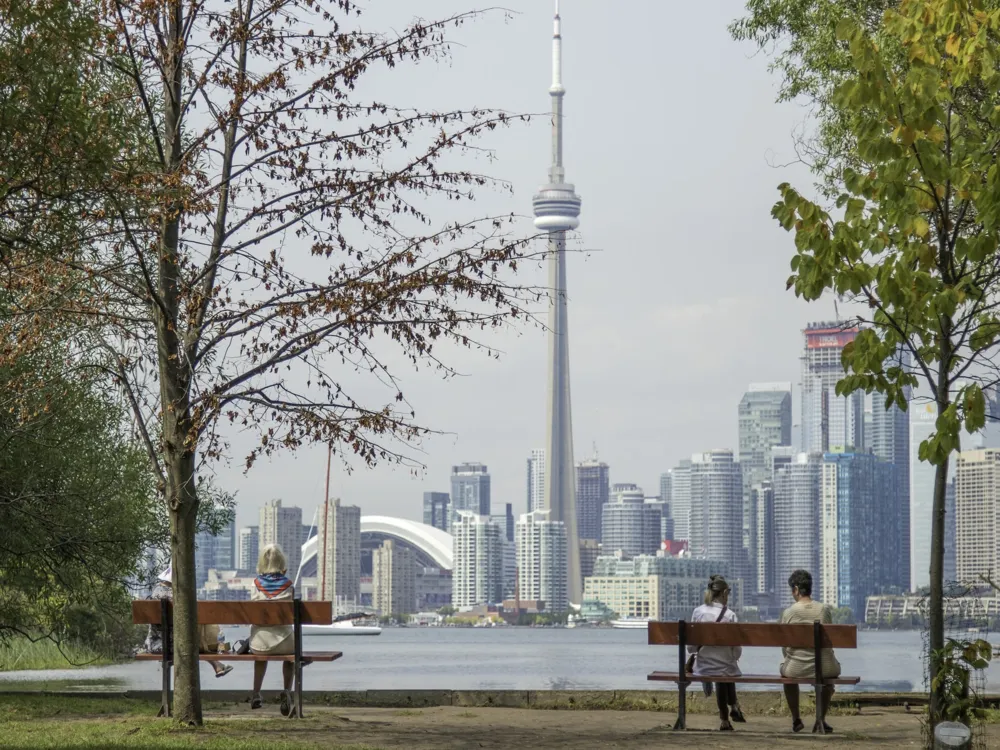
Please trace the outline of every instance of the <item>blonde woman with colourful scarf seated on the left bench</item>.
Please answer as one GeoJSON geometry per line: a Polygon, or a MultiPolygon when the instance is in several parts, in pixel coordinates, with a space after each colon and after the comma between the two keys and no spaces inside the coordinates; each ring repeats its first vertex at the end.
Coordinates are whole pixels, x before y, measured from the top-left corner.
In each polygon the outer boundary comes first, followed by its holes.
{"type": "MultiPolygon", "coordinates": [[[[277,544],[269,544],[260,553],[257,561],[257,577],[250,592],[250,601],[283,601],[295,596],[291,580],[288,578],[288,561],[277,544]]],[[[293,654],[295,635],[291,625],[252,625],[250,627],[250,651],[255,654],[293,654]]],[[[295,665],[290,661],[281,664],[284,690],[281,692],[281,715],[292,712],[292,683],[295,665]]],[[[266,661],[253,663],[253,696],[250,708],[264,705],[260,688],[267,673],[266,661]]]]}

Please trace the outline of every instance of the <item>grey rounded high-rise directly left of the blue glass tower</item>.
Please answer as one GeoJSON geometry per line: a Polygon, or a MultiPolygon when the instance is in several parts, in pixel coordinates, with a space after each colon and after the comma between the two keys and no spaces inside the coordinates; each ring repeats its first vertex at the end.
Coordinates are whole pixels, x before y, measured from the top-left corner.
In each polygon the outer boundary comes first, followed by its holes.
{"type": "Polygon", "coordinates": [[[774,470],[774,590],[781,607],[792,604],[788,577],[796,570],[813,575],[821,591],[819,501],[823,456],[799,453],[791,460],[776,456],[774,470]]]}

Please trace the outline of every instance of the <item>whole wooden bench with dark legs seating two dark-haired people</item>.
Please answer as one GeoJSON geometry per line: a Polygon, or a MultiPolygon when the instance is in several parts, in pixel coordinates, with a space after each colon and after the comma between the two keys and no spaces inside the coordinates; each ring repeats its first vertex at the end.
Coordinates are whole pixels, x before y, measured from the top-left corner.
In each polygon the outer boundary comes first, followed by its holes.
{"type": "Polygon", "coordinates": [[[752,685],[813,685],[817,692],[816,720],[818,732],[823,733],[823,722],[819,715],[821,702],[819,691],[823,685],[857,685],[860,677],[837,677],[835,679],[794,679],[779,675],[745,674],[741,677],[719,676],[700,677],[687,674],[688,646],[762,646],[769,648],[808,648],[816,652],[815,670],[822,675],[820,665],[821,649],[857,648],[858,629],[854,625],[782,625],[774,623],[715,623],[715,622],[651,622],[649,623],[650,646],[677,646],[678,671],[652,672],[648,680],[676,682],[678,696],[677,723],[674,729],[687,728],[687,686],[692,682],[735,682],[752,685]]]}

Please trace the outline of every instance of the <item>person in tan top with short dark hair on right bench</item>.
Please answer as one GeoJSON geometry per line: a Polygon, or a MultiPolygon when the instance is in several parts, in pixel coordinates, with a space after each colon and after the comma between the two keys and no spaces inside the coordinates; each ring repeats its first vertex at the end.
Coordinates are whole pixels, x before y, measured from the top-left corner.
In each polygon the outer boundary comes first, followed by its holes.
{"type": "MultiPolygon", "coordinates": [[[[796,570],[788,577],[788,585],[792,589],[792,598],[795,603],[781,613],[779,622],[785,624],[807,624],[821,622],[825,625],[833,624],[833,615],[830,608],[825,604],[812,600],[812,575],[805,570],[796,570]]],[[[811,648],[783,648],[782,654],[785,659],[781,663],[781,676],[793,677],[800,680],[815,679],[816,676],[816,652],[811,648]]],[[[820,654],[820,662],[823,669],[823,678],[830,679],[840,677],[840,663],[833,655],[832,648],[823,649],[820,654]]],[[[801,732],[804,728],[802,716],[799,713],[799,686],[785,685],[785,700],[788,701],[788,709],[792,712],[792,731],[801,732]]],[[[824,731],[828,734],[833,730],[826,723],[826,711],[830,707],[830,700],[833,698],[833,685],[825,685],[822,691],[822,706],[819,711],[820,718],[817,720],[813,732],[819,730],[819,722],[823,722],[824,731]]]]}

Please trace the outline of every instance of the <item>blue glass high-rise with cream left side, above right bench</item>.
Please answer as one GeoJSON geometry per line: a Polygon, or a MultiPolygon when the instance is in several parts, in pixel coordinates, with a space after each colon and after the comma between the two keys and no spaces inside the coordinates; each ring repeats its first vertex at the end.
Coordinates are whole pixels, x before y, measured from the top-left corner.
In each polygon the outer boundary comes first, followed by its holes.
{"type": "Polygon", "coordinates": [[[821,598],[860,617],[899,593],[898,470],[872,453],[827,453],[820,480],[821,598]]]}

